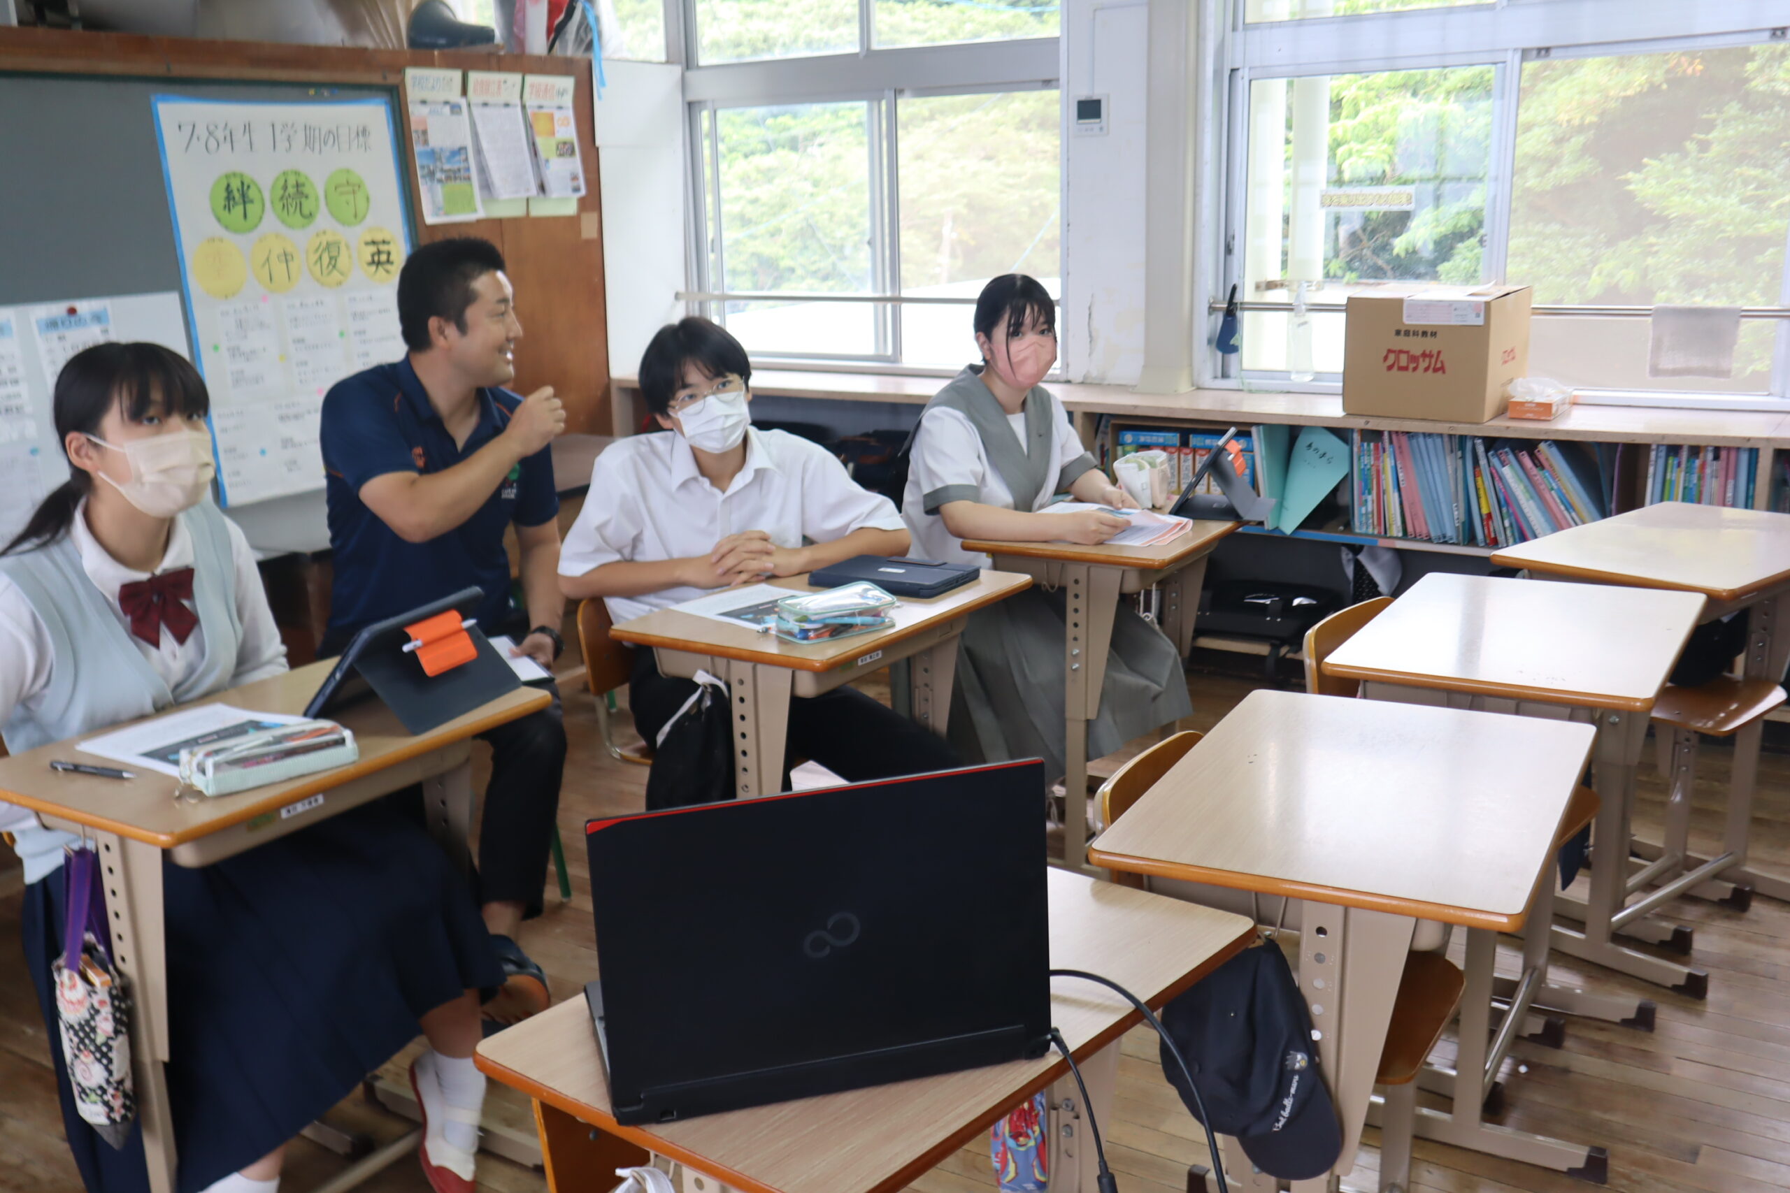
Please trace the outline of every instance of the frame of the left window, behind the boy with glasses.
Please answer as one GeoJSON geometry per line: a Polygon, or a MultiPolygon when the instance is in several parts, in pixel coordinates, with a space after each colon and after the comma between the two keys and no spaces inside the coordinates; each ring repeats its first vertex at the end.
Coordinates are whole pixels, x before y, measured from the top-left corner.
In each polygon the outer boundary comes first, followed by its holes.
{"type": "MultiPolygon", "coordinates": [[[[686,61],[698,52],[696,0],[668,0],[680,9],[686,61]]],[[[759,297],[757,292],[727,292],[716,286],[725,277],[727,261],[720,229],[725,211],[720,202],[720,122],[716,113],[732,107],[786,104],[872,104],[870,122],[870,234],[872,293],[764,293],[780,302],[868,302],[877,309],[875,351],[870,354],[836,352],[754,352],[754,360],[782,368],[811,367],[834,372],[884,372],[911,376],[950,376],[950,370],[902,363],[904,306],[974,306],[974,297],[908,297],[900,286],[900,129],[902,98],[947,95],[988,95],[1010,91],[1058,91],[1058,154],[1065,138],[1061,107],[1061,38],[1013,38],[1001,41],[956,41],[927,47],[868,48],[874,29],[874,0],[859,4],[859,50],[856,54],[816,54],[771,57],[741,63],[687,66],[684,104],[687,129],[686,254],[691,288],[677,297],[693,315],[725,324],[729,300],[759,297]],[[711,236],[714,243],[711,245],[711,236]]],[[[1056,376],[1060,376],[1058,360],[1056,376]]]]}

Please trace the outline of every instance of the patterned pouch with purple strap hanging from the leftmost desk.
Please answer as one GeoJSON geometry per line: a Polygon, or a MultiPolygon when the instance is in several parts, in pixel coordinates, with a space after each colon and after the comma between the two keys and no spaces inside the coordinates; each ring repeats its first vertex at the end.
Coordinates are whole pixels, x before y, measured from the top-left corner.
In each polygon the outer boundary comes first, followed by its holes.
{"type": "Polygon", "coordinates": [[[111,962],[98,857],[68,850],[63,955],[50,966],[63,1059],[81,1121],[122,1148],[136,1118],[131,1089],[131,996],[111,962]]]}

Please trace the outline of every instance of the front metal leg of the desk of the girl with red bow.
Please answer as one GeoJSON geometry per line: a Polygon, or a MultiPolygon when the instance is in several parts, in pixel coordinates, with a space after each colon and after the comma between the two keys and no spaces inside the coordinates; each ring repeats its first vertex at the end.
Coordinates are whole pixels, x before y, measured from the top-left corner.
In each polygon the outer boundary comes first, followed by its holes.
{"type": "Polygon", "coordinates": [[[113,960],[132,998],[131,1077],[143,1123],[150,1193],[174,1193],[179,1157],[168,1109],[168,952],[163,935],[161,850],[116,833],[98,839],[113,960]]]}

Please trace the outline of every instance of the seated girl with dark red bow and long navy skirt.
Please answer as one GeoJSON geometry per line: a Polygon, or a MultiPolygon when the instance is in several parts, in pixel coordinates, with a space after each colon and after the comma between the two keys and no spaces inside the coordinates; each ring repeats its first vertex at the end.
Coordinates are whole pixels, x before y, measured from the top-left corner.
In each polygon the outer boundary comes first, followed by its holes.
{"type": "MultiPolygon", "coordinates": [[[[0,551],[9,751],[286,669],[254,554],[209,501],[208,406],[197,370],[154,343],[86,349],[57,377],[70,479],[0,551]]],[[[177,1193],[274,1193],[285,1143],[419,1032],[424,1172],[439,1193],[471,1191],[478,993],[503,977],[465,880],[390,803],[213,866],[163,866],[177,1193]]],[[[57,1032],[63,860],[81,842],[5,803],[0,830],[25,864],[25,960],[82,1182],[147,1191],[141,1134],[113,1146],[79,1116],[57,1032]]]]}

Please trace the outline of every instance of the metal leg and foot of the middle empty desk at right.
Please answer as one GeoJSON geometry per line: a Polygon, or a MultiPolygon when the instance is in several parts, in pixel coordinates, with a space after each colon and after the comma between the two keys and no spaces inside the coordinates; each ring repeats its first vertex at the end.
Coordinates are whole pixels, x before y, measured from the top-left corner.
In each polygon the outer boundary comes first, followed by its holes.
{"type": "Polygon", "coordinates": [[[1647,740],[1647,717],[1600,712],[1597,717],[1597,850],[1591,866],[1591,898],[1586,903],[1584,930],[1554,926],[1554,948],[1568,957],[1618,969],[1636,978],[1666,986],[1692,998],[1709,993],[1709,973],[1675,966],[1624,948],[1611,939],[1613,918],[1622,910],[1629,867],[1629,808],[1634,801],[1634,767],[1647,740]]]}

